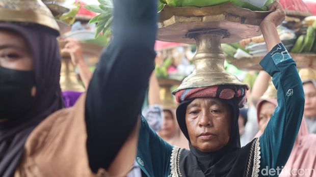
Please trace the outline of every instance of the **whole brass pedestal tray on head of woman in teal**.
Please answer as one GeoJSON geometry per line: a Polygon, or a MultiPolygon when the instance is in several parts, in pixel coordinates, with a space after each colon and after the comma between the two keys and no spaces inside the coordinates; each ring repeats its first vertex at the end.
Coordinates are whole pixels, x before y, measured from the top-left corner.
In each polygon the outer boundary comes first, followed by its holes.
{"type": "Polygon", "coordinates": [[[157,40],[197,45],[193,58],[195,70],[173,94],[192,87],[245,85],[225,71],[220,44],[261,35],[259,25],[269,13],[235,7],[231,3],[204,8],[165,6],[159,13],[157,40]]]}

